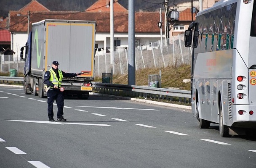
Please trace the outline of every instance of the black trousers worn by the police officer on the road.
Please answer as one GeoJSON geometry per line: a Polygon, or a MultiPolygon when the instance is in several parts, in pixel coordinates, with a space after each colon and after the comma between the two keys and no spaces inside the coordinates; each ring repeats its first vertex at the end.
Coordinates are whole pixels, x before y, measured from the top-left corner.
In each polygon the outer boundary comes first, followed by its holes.
{"type": "Polygon", "coordinates": [[[64,107],[64,97],[63,93],[59,89],[49,89],[47,92],[47,103],[48,103],[48,117],[53,117],[53,102],[56,100],[56,104],[58,107],[57,118],[61,118],[64,107]]]}

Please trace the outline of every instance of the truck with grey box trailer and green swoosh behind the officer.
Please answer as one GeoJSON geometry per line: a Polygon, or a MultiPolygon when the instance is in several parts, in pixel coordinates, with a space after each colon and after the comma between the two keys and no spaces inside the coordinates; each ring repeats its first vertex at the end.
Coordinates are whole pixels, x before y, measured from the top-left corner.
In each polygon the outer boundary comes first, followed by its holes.
{"type": "Polygon", "coordinates": [[[25,61],[24,93],[47,96],[43,77],[57,60],[62,71],[83,73],[62,80],[64,95],[87,99],[93,89],[95,33],[96,21],[45,19],[33,23],[25,54],[21,47],[21,58],[25,61]]]}

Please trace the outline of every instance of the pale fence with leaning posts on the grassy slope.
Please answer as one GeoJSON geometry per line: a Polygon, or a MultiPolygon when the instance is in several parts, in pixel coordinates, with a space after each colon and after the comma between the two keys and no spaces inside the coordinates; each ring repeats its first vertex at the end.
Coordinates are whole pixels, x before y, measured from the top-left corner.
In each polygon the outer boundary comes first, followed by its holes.
{"type": "MultiPolygon", "coordinates": [[[[161,46],[160,40],[149,45],[138,46],[135,49],[135,69],[164,68],[189,64],[192,49],[184,46],[184,34],[168,39],[168,44],[161,46]]],[[[128,73],[128,50],[116,51],[114,63],[111,65],[110,53],[95,55],[95,76],[111,72],[113,74],[128,73]]]]}

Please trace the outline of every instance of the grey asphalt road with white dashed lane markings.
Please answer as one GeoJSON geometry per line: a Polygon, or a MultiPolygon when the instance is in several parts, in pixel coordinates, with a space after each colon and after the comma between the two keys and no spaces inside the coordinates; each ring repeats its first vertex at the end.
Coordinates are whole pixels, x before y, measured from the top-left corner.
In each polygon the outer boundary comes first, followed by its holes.
{"type": "Polygon", "coordinates": [[[256,167],[255,138],[199,129],[187,109],[96,95],[64,105],[67,121],[49,122],[47,99],[0,86],[0,168],[256,167]]]}

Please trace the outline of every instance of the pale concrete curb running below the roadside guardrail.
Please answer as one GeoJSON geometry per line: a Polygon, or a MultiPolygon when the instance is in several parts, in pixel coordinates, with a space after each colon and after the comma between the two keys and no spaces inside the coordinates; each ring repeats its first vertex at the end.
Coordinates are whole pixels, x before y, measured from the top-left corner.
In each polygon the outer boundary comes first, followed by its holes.
{"type": "MultiPolygon", "coordinates": [[[[7,84],[0,84],[1,87],[19,87],[19,88],[23,88],[23,86],[21,85],[7,85],[7,84]]],[[[131,101],[135,101],[135,102],[144,102],[144,103],[148,103],[148,104],[154,104],[154,105],[163,105],[166,107],[173,107],[173,108],[184,108],[187,110],[191,110],[191,106],[187,106],[187,105],[176,105],[176,104],[171,104],[171,103],[165,103],[165,102],[155,102],[152,100],[145,100],[145,99],[136,99],[136,98],[131,98],[131,97],[121,97],[121,96],[114,96],[114,95],[103,95],[101,93],[94,93],[94,92],[90,92],[90,95],[97,95],[97,96],[103,96],[103,97],[112,97],[112,98],[117,98],[117,99],[123,99],[123,100],[131,100],[131,101]]]]}

